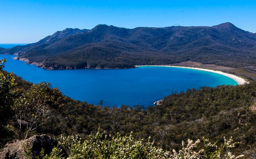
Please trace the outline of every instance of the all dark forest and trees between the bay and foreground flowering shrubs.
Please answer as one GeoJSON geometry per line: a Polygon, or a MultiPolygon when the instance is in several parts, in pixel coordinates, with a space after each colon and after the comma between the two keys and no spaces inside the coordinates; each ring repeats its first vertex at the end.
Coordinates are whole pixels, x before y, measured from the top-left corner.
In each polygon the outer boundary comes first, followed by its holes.
{"type": "Polygon", "coordinates": [[[169,95],[161,105],[147,109],[140,105],[102,107],[75,101],[47,83],[32,85],[3,71],[0,81],[1,146],[8,140],[42,133],[76,135],[87,140],[100,125],[100,132],[105,130],[107,136],[133,132],[136,140],[151,137],[154,146],[164,151],[182,149],[182,140],[204,137],[219,146],[224,137],[233,136],[239,144],[232,154],[256,156],[253,81],[239,86],[189,89],[169,95]],[[32,120],[35,118],[37,122],[32,120]]]}

